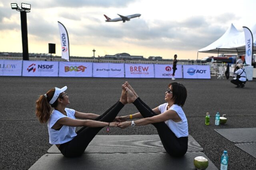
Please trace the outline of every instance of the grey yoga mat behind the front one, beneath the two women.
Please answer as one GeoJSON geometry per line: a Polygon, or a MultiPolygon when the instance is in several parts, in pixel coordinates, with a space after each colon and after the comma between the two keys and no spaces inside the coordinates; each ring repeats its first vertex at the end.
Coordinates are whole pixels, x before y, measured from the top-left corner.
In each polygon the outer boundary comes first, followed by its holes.
{"type": "MultiPolygon", "coordinates": [[[[188,136],[188,152],[204,149],[188,136]]],[[[53,145],[48,153],[60,153],[53,145]]],[[[85,153],[165,152],[158,135],[96,135],[85,153]]]]}

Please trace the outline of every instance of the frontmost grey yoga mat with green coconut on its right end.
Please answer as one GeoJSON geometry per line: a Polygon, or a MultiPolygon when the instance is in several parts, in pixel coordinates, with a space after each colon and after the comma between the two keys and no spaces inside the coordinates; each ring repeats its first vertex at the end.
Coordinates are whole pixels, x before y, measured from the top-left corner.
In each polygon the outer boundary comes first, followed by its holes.
{"type": "Polygon", "coordinates": [[[207,169],[218,170],[203,152],[187,152],[182,158],[173,158],[164,152],[84,153],[76,158],[44,154],[30,170],[195,170],[193,161],[196,156],[208,159],[207,169]]]}

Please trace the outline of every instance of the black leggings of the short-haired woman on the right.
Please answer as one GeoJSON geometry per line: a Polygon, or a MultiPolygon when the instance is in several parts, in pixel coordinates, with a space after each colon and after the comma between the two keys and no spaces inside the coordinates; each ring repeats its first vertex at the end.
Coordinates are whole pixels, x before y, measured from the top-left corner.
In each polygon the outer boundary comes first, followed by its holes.
{"type": "MultiPolygon", "coordinates": [[[[138,111],[140,111],[140,114],[144,118],[158,115],[140,98],[137,98],[133,104],[137,107],[138,111]]],[[[152,123],[152,125],[156,127],[164,149],[168,154],[175,157],[180,157],[186,154],[188,150],[188,137],[177,138],[164,122],[152,123]]]]}

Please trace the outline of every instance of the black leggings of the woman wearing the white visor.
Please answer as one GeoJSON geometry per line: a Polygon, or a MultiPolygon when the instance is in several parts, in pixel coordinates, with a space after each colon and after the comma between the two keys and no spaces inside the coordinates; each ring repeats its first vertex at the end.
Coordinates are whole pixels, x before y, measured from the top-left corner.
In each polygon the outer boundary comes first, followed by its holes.
{"type": "MultiPolygon", "coordinates": [[[[123,107],[124,105],[118,101],[105,113],[94,120],[112,122],[123,107]]],[[[103,127],[82,127],[79,131],[76,132],[76,137],[74,137],[71,141],[60,145],[60,152],[66,157],[80,156],[84,153],[86,147],[102,128],[103,127]]]]}

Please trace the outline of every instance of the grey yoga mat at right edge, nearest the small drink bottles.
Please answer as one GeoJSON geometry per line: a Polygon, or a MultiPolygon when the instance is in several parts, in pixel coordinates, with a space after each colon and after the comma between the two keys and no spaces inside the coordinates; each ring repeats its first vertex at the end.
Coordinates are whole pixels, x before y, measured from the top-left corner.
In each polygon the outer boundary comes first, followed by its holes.
{"type": "Polygon", "coordinates": [[[233,143],[256,142],[256,128],[214,129],[233,143]]]}

